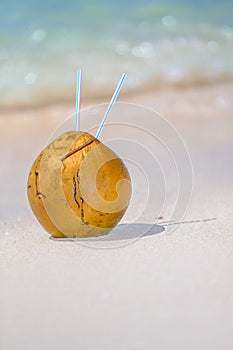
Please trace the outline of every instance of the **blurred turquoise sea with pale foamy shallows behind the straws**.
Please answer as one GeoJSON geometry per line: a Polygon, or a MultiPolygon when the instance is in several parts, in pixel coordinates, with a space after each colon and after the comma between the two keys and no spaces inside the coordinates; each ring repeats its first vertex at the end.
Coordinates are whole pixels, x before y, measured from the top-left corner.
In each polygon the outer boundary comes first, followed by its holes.
{"type": "Polygon", "coordinates": [[[233,78],[233,1],[0,1],[0,106],[233,78]]]}

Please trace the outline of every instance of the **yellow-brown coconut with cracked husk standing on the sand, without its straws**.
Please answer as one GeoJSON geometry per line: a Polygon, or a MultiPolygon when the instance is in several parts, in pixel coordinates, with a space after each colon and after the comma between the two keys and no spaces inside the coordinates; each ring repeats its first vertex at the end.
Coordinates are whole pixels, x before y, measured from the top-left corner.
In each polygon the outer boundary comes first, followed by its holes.
{"type": "Polygon", "coordinates": [[[31,208],[54,237],[108,233],[124,215],[130,196],[123,161],[84,132],[67,132],[48,145],[28,178],[31,208]]]}

